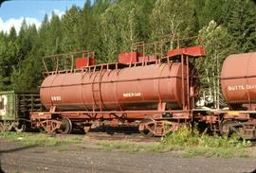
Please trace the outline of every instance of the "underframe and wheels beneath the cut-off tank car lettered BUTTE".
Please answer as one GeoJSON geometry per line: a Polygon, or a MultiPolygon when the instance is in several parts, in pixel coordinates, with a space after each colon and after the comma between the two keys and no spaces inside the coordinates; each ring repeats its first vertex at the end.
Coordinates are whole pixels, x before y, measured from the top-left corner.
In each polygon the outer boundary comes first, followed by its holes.
{"type": "Polygon", "coordinates": [[[200,120],[209,125],[210,131],[223,135],[237,133],[243,139],[256,139],[255,111],[214,111],[201,115],[200,120]]]}

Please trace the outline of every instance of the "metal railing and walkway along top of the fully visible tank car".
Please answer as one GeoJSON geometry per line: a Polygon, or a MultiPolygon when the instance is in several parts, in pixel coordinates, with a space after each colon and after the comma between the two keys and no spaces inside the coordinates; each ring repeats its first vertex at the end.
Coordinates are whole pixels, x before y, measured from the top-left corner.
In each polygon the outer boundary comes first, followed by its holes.
{"type": "MultiPolygon", "coordinates": [[[[46,72],[44,77],[60,73],[73,73],[73,72],[95,72],[106,70],[118,70],[125,67],[144,66],[153,63],[162,63],[175,61],[174,56],[168,55],[170,50],[179,50],[181,47],[186,47],[192,43],[192,40],[198,39],[198,36],[179,38],[178,36],[166,35],[153,43],[132,43],[131,52],[124,53],[127,60],[124,62],[117,61],[113,63],[95,64],[95,52],[91,51],[78,51],[66,54],[50,55],[43,58],[43,63],[46,72]],[[136,60],[132,61],[132,57],[136,53],[136,60]],[[84,59],[84,60],[82,60],[84,59]],[[80,65],[80,61],[82,64],[80,65]]],[[[120,55],[120,54],[119,54],[120,55]]],[[[177,60],[180,60],[178,58],[177,60]]]]}

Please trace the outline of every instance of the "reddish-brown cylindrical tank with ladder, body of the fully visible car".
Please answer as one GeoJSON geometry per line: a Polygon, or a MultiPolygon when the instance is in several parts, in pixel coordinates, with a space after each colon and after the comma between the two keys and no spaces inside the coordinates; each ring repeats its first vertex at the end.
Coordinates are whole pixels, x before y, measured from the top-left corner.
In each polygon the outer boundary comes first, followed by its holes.
{"type": "Polygon", "coordinates": [[[174,110],[182,108],[181,73],[182,64],[173,62],[56,74],[43,81],[40,95],[58,111],[157,110],[159,102],[174,110]]]}

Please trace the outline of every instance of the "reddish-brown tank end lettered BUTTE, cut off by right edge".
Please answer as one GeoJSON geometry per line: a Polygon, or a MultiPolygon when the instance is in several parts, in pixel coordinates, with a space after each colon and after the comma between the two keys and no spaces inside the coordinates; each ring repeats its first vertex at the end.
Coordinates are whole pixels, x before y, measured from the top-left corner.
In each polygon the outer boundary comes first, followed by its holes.
{"type": "Polygon", "coordinates": [[[222,92],[229,104],[256,103],[256,53],[230,55],[221,73],[222,92]]]}

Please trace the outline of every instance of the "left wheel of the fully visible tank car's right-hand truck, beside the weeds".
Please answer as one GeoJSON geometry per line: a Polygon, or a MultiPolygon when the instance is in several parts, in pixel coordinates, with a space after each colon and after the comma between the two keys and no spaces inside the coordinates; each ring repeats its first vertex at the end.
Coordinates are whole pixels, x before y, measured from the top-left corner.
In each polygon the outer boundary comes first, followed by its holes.
{"type": "Polygon", "coordinates": [[[143,119],[139,123],[139,132],[145,137],[152,137],[154,133],[151,130],[155,130],[155,120],[154,119],[143,119]]]}

